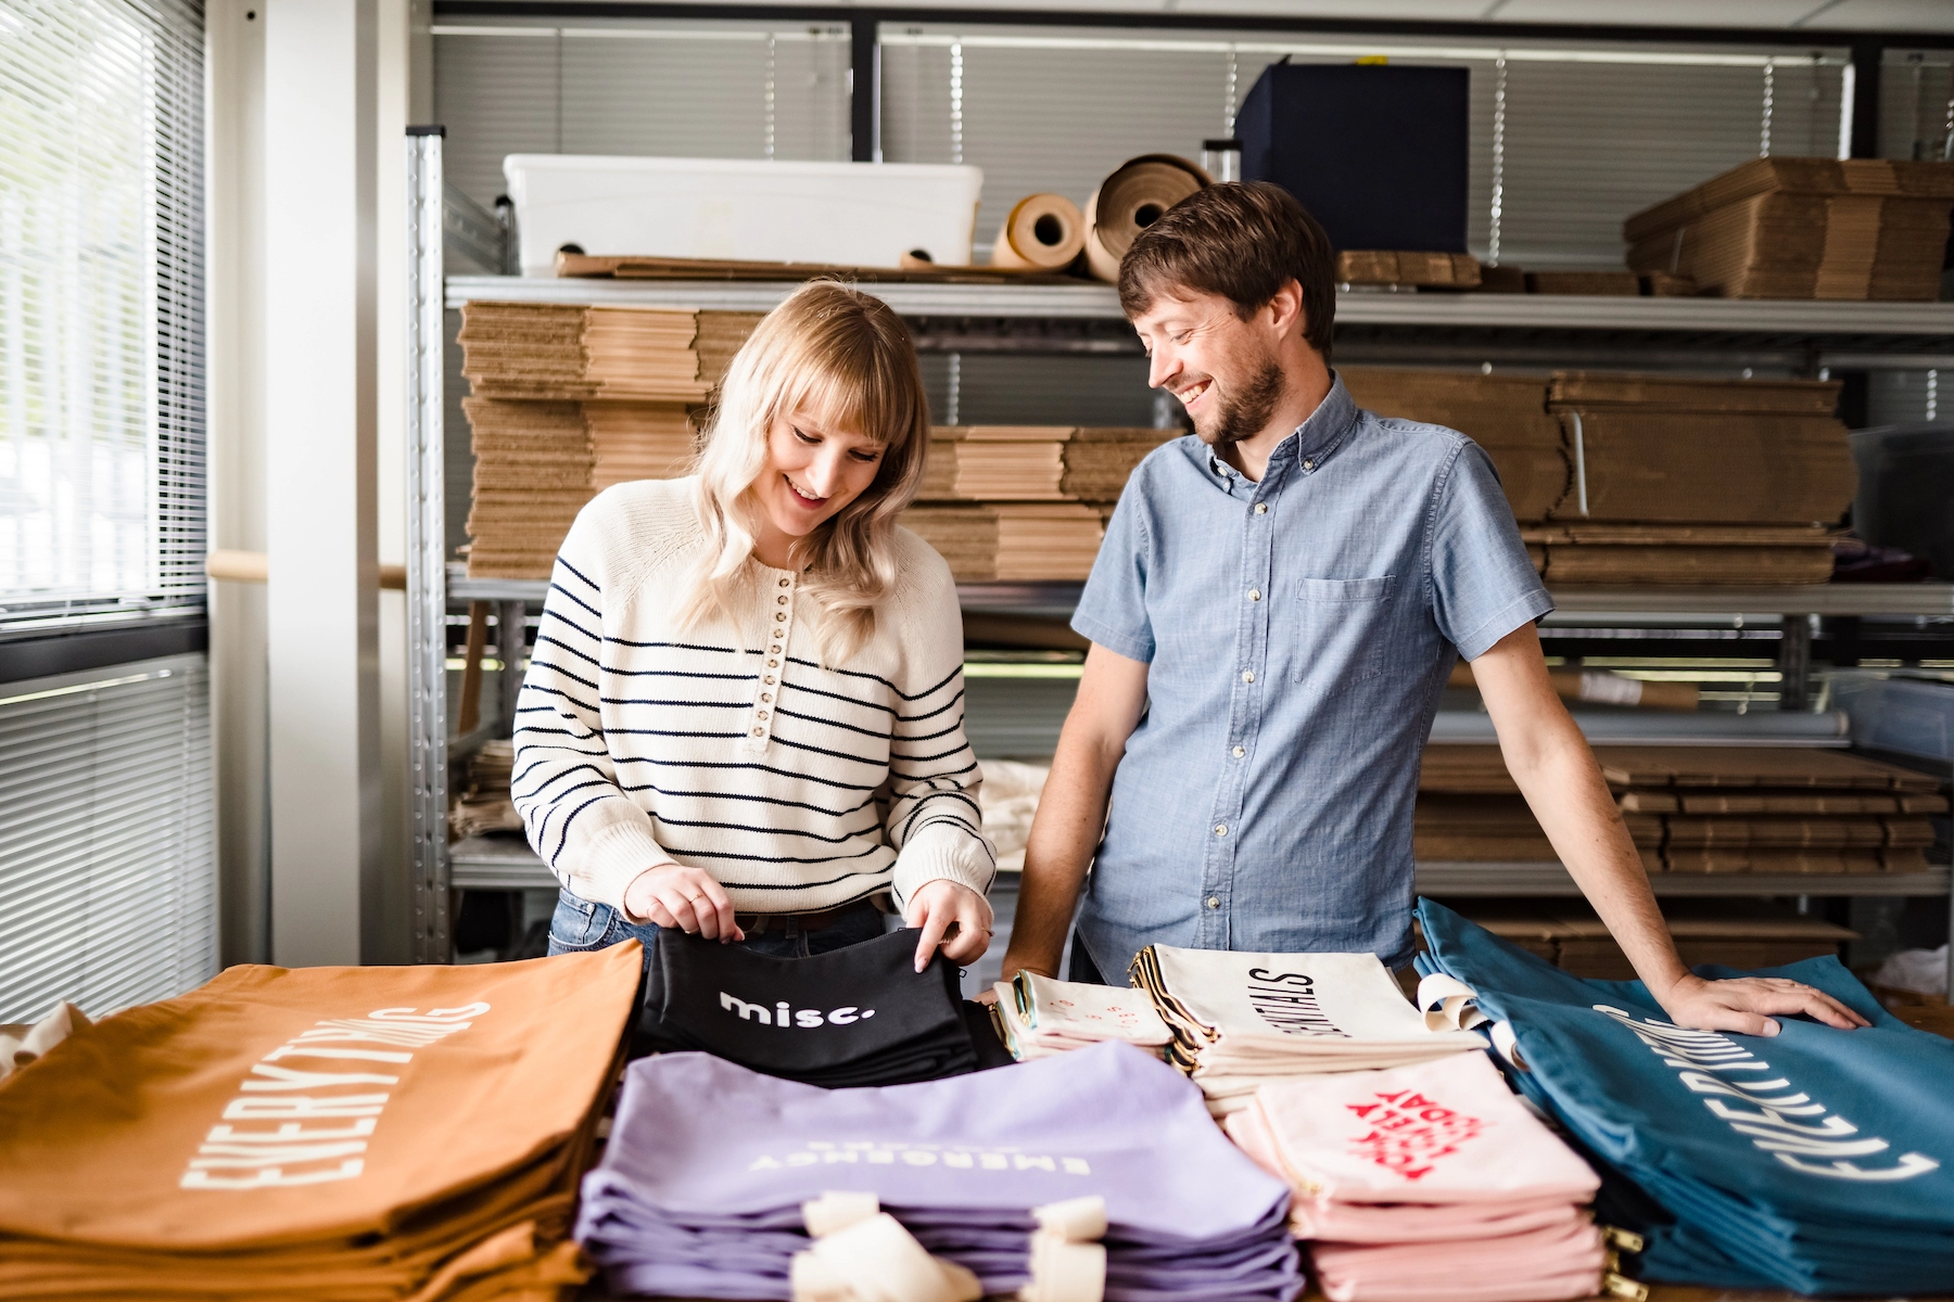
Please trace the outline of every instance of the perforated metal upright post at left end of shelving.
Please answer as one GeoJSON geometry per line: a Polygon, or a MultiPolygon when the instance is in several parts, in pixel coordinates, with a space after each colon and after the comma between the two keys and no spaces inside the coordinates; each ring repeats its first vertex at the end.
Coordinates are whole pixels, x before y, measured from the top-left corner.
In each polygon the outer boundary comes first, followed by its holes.
{"type": "Polygon", "coordinates": [[[414,962],[449,962],[442,127],[406,129],[406,679],[414,962]]]}

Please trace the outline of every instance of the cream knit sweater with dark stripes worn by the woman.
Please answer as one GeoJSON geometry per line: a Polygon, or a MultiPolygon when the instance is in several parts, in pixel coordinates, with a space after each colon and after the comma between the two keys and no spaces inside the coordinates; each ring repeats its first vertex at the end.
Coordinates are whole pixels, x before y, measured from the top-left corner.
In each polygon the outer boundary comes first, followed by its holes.
{"type": "Polygon", "coordinates": [[[741,627],[680,629],[703,550],[696,480],[641,480],[576,517],[516,709],[512,793],[530,845],[574,894],[623,912],[676,861],[739,912],[825,910],[950,878],[983,894],[977,759],[963,740],[963,623],[950,568],[897,529],[897,588],[844,666],[821,607],[752,562],[741,627]]]}

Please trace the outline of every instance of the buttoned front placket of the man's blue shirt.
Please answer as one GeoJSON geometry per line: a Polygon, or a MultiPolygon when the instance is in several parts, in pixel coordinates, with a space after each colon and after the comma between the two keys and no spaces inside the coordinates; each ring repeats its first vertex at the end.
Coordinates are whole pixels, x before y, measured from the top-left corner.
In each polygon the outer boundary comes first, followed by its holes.
{"type": "Polygon", "coordinates": [[[1282,492],[1284,467],[1272,461],[1254,484],[1247,478],[1229,482],[1229,496],[1241,502],[1241,574],[1229,591],[1235,603],[1235,685],[1229,693],[1229,753],[1221,767],[1221,783],[1208,820],[1208,853],[1202,863],[1202,908],[1198,910],[1200,949],[1227,949],[1229,902],[1235,892],[1235,853],[1245,828],[1243,802],[1249,789],[1249,752],[1262,722],[1262,691],[1268,689],[1268,617],[1272,601],[1270,572],[1276,549],[1276,517],[1268,509],[1282,492]],[[1245,492],[1235,494],[1235,486],[1245,492]]]}

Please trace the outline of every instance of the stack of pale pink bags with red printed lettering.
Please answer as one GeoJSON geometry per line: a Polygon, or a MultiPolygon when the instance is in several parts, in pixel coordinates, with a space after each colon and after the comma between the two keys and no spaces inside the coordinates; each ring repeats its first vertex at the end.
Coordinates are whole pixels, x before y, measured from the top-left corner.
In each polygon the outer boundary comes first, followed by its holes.
{"type": "Polygon", "coordinates": [[[1600,1290],[1600,1181],[1485,1054],[1272,1081],[1223,1122],[1296,1191],[1331,1302],[1559,1302],[1600,1290]]]}

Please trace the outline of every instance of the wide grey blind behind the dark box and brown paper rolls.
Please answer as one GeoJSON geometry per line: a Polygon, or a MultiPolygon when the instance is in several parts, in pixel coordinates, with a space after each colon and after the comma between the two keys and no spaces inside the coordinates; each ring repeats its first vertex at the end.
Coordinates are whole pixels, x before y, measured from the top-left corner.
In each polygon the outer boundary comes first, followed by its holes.
{"type": "Polygon", "coordinates": [[[977,240],[1051,189],[1084,203],[1143,152],[1198,158],[1270,62],[1471,70],[1467,246],[1522,267],[1620,267],[1622,219],[1761,152],[1835,154],[1845,51],[881,27],[889,162],[985,170],[977,240]]]}

